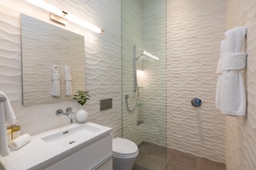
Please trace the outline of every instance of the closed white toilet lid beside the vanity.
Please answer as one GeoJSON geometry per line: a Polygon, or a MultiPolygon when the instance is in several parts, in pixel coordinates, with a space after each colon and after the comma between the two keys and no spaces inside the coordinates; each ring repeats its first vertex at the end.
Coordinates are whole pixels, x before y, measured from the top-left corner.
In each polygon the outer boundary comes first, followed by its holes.
{"type": "Polygon", "coordinates": [[[137,145],[131,140],[116,138],[113,139],[113,153],[117,155],[133,155],[137,153],[137,145]]]}

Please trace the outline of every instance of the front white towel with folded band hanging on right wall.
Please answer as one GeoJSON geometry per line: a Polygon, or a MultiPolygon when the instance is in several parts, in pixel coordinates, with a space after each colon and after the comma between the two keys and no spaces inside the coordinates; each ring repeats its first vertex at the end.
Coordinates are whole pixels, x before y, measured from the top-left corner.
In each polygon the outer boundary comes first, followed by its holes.
{"type": "Polygon", "coordinates": [[[247,54],[241,53],[246,35],[246,27],[236,27],[224,33],[220,111],[226,115],[246,114],[246,94],[241,74],[241,70],[246,67],[247,54]]]}

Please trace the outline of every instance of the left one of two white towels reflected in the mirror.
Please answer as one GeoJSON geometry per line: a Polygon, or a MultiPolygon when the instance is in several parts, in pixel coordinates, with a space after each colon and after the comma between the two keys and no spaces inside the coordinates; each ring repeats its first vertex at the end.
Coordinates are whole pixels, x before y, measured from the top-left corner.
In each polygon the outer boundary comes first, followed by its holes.
{"type": "Polygon", "coordinates": [[[60,96],[60,74],[58,65],[53,65],[51,75],[51,95],[60,96]]]}

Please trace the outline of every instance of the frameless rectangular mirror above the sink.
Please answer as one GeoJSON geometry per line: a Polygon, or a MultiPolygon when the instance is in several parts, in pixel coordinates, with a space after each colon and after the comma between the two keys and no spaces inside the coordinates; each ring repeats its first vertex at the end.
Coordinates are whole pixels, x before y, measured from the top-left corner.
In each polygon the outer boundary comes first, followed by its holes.
{"type": "Polygon", "coordinates": [[[22,103],[47,104],[71,100],[84,90],[84,37],[20,14],[22,47],[22,103]],[[58,66],[59,96],[53,96],[52,71],[58,66]],[[66,95],[65,67],[72,75],[72,95],[66,95]]]}

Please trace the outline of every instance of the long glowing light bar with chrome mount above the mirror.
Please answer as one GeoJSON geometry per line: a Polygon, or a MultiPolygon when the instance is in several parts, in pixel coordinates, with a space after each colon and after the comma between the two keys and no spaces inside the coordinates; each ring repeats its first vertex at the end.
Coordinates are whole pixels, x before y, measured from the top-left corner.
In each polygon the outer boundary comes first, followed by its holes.
{"type": "Polygon", "coordinates": [[[102,34],[104,31],[86,20],[81,20],[73,14],[69,14],[60,8],[56,8],[55,6],[45,3],[43,0],[26,0],[28,3],[32,3],[33,5],[38,6],[39,8],[43,8],[44,10],[49,11],[49,17],[51,20],[55,20],[63,25],[67,25],[67,20],[77,24],[79,26],[83,26],[84,28],[89,29],[90,31],[95,31],[96,33],[102,34]]]}

